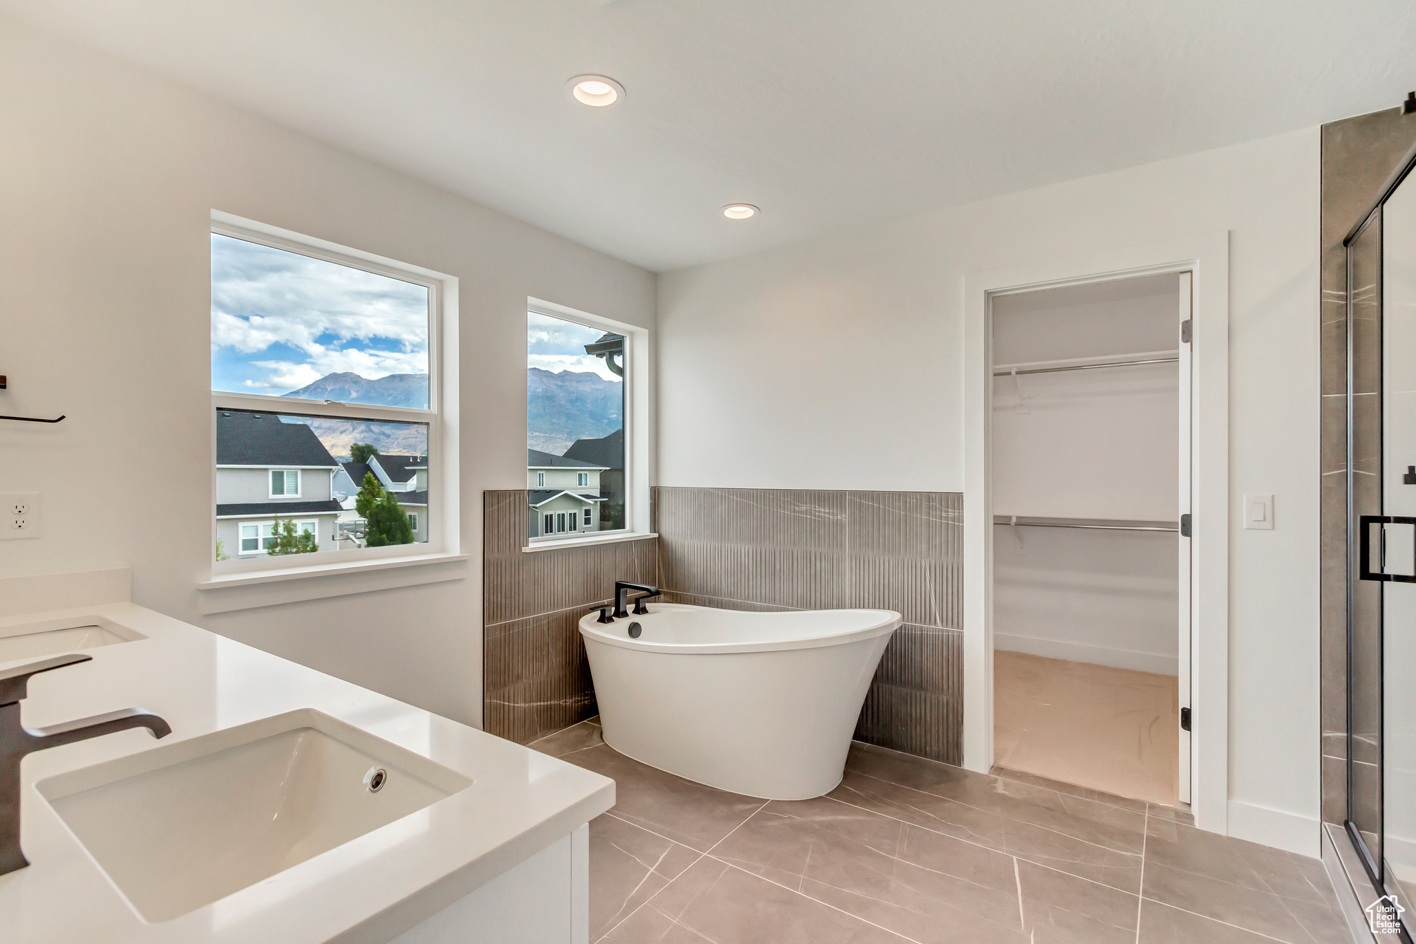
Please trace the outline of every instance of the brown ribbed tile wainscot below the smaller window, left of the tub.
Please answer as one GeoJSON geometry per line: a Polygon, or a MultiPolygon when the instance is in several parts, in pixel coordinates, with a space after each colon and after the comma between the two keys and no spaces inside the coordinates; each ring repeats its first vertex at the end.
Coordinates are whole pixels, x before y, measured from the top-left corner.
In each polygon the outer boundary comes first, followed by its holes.
{"type": "Polygon", "coordinates": [[[530,743],[596,713],[576,630],[616,580],[653,583],[656,541],[527,553],[525,491],[483,493],[483,723],[530,743]]]}

